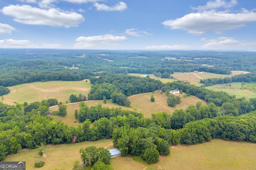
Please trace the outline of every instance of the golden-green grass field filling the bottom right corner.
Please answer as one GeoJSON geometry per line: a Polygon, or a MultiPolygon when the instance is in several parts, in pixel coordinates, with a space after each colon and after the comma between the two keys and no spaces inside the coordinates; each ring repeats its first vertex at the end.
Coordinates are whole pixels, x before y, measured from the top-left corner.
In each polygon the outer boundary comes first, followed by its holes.
{"type": "Polygon", "coordinates": [[[178,145],[156,164],[162,170],[252,170],[256,167],[256,144],[214,139],[197,145],[178,145]]]}

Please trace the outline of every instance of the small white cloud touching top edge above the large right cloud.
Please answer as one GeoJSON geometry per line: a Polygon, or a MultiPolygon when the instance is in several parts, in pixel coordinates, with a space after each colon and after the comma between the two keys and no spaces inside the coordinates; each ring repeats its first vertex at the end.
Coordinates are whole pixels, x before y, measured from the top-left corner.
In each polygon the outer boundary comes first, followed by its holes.
{"type": "Polygon", "coordinates": [[[230,2],[226,2],[224,0],[215,0],[208,1],[204,6],[191,7],[193,10],[209,10],[209,9],[217,9],[217,8],[231,8],[237,4],[237,0],[230,0],[230,2]]]}

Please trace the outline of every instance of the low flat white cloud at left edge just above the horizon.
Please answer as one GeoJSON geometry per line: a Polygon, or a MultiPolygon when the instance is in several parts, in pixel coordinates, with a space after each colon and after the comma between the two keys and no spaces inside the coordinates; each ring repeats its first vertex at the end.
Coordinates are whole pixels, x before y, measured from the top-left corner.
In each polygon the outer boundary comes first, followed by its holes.
{"type": "Polygon", "coordinates": [[[28,40],[5,39],[0,40],[0,48],[36,48],[32,42],[28,40]]]}

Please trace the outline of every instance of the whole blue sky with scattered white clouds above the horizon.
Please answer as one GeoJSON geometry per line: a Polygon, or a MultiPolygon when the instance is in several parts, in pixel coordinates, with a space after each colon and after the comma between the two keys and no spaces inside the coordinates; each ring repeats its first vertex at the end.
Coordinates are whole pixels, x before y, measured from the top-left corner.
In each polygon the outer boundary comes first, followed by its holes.
{"type": "Polygon", "coordinates": [[[0,48],[256,50],[256,1],[0,0],[0,48]]]}

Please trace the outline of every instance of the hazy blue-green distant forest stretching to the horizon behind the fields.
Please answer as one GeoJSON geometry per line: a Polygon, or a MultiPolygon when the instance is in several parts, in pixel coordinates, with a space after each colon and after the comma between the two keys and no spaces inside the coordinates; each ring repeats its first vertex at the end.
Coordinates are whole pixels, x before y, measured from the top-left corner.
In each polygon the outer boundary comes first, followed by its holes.
{"type": "Polygon", "coordinates": [[[0,49],[0,86],[106,74],[256,72],[255,52],[0,49]],[[70,69],[74,68],[74,69],[70,69]],[[76,69],[78,68],[78,69],[76,69]]]}

